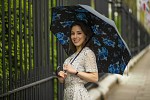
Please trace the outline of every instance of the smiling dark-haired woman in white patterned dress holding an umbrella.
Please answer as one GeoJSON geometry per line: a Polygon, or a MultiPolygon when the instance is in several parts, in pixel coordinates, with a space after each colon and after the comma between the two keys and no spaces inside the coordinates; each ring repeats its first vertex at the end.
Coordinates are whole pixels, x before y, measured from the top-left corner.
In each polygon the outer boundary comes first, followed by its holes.
{"type": "Polygon", "coordinates": [[[87,82],[98,81],[98,70],[94,52],[89,47],[84,47],[90,36],[90,28],[86,24],[83,22],[72,24],[70,39],[74,54],[65,60],[63,66],[65,71],[58,73],[59,81],[65,85],[64,100],[91,100],[84,85],[87,82]],[[70,64],[79,52],[80,54],[70,64]]]}

